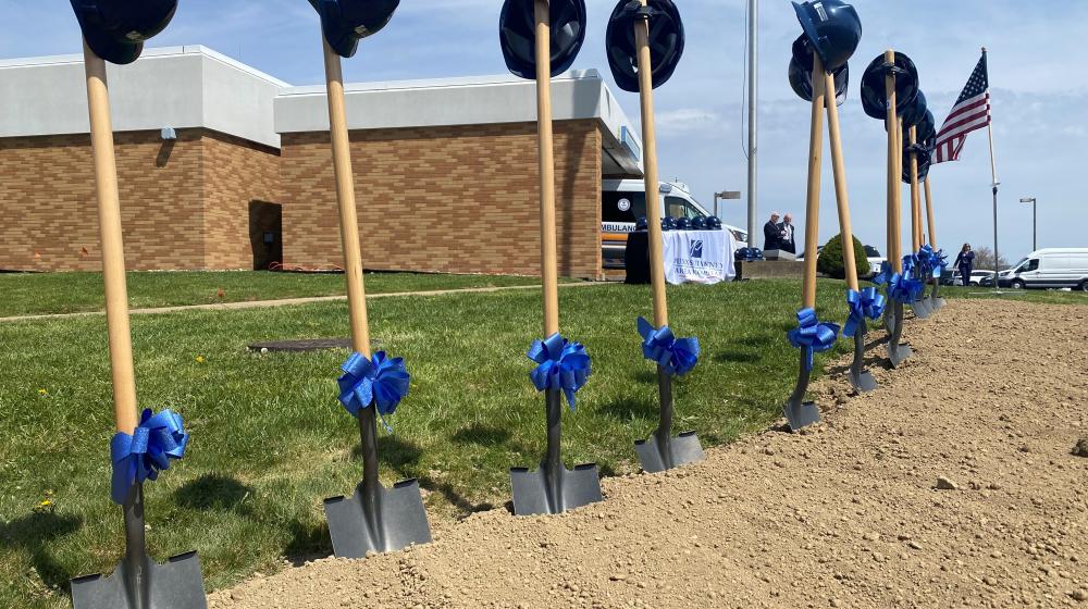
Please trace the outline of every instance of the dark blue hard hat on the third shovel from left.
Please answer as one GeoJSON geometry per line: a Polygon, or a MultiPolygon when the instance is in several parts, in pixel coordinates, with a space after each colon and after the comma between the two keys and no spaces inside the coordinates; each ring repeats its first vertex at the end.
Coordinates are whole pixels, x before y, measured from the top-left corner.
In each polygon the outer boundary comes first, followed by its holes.
{"type": "MultiPolygon", "coordinates": [[[[515,75],[536,78],[536,12],[533,0],[506,0],[498,16],[498,39],[506,66],[515,75]]],[[[548,2],[552,76],[566,72],[585,41],[585,0],[548,2]]]]}

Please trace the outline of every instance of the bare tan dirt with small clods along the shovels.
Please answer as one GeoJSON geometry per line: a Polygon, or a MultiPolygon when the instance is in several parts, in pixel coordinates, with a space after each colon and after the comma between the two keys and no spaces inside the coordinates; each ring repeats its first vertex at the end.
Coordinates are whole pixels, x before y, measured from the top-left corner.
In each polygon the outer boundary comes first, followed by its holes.
{"type": "Polygon", "coordinates": [[[606,480],[562,517],[484,512],[408,551],[257,574],[210,605],[1088,608],[1088,307],[954,301],[905,336],[915,358],[873,394],[821,382],[825,422],[803,434],[606,480]]]}

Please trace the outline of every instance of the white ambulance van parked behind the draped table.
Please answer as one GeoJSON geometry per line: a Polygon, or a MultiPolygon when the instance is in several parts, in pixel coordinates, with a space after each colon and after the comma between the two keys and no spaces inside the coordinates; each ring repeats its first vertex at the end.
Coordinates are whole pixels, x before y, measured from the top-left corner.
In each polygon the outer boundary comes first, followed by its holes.
{"type": "MultiPolygon", "coordinates": [[[[713,215],[688,187],[680,183],[662,182],[658,195],[662,216],[707,217],[713,215]]],[[[622,269],[627,251],[627,235],[634,232],[635,221],[646,216],[646,185],[641,179],[605,179],[601,194],[601,249],[605,269],[622,269]]],[[[738,248],[747,247],[747,233],[722,224],[733,234],[738,248]]]]}

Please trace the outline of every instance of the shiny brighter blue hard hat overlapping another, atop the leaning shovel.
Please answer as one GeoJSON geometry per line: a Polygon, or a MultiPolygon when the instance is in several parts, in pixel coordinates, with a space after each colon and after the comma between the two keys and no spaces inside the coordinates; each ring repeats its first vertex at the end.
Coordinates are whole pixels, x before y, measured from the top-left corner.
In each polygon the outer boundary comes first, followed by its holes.
{"type": "Polygon", "coordinates": [[[824,70],[833,72],[846,65],[862,40],[857,11],[842,0],[794,2],[793,10],[809,45],[824,62],[824,70]]]}

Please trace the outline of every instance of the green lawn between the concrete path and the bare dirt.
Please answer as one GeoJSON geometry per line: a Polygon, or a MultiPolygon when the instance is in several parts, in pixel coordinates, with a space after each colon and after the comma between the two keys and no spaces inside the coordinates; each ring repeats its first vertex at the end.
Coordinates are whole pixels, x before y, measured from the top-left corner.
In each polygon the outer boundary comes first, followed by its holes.
{"type": "MultiPolygon", "coordinates": [[[[605,475],[636,471],[633,442],[657,423],[654,368],[635,332],[635,318],[652,313],[650,288],[560,298],[564,334],[593,357],[578,411],[565,413],[565,459],[595,461],[605,475]]],[[[786,331],[800,285],[671,287],[669,299],[678,335],[703,346],[676,386],[677,430],[713,446],[765,428],[795,381],[786,331]]],[[[412,373],[395,434],[380,440],[382,477],[418,477],[432,521],[503,506],[509,468],[539,462],[543,398],[524,353],[540,307],[535,291],[372,303],[373,336],[412,373]]],[[[821,283],[819,310],[843,320],[841,282],[821,283]]],[[[140,315],[133,333],[140,403],[180,412],[193,435],[186,458],[147,487],[153,556],[199,550],[211,589],[285,557],[331,554],[322,499],[350,494],[361,475],[356,423],[336,401],[347,352],[261,356],[246,345],[346,336],[346,303],[140,315]]],[[[0,324],[0,607],[66,607],[71,576],[110,571],[121,556],[106,337],[99,316],[0,324]]],[[[841,340],[838,352],[848,349],[841,340]]]]}

